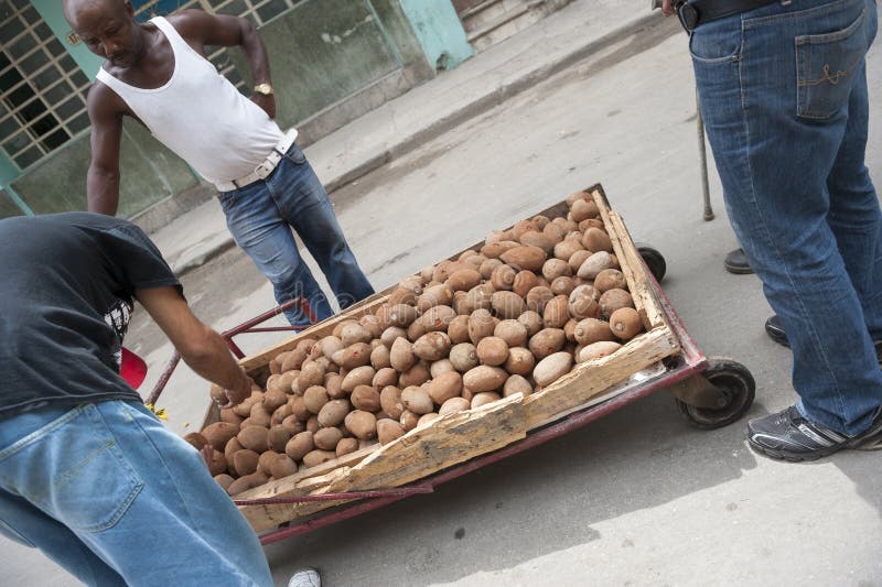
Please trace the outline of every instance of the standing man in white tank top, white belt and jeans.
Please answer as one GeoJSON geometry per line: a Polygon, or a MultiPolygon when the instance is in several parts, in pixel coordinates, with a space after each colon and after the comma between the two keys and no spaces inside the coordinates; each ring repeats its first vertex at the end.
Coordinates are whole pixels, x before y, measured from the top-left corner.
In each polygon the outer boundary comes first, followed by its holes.
{"type": "Polygon", "coordinates": [[[286,312],[291,324],[333,314],[291,228],[341,308],[374,293],[294,143],[297,131],[283,133],[272,120],[269,63],[250,22],[185,10],[139,24],[127,0],[65,0],[64,12],[89,51],[107,58],[88,95],[90,211],[117,211],[122,117],[129,116],[217,186],[234,239],[270,280],[276,300],[308,302],[286,312]],[[206,45],[243,48],[256,83],[250,99],[205,58],[206,45]]]}

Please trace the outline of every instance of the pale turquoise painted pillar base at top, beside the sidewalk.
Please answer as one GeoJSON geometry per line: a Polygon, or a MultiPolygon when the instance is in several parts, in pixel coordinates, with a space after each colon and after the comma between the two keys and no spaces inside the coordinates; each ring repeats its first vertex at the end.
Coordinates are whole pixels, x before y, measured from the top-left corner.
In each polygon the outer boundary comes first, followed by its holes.
{"type": "Polygon", "coordinates": [[[426,58],[437,69],[452,69],[474,55],[451,2],[400,0],[426,58]]]}

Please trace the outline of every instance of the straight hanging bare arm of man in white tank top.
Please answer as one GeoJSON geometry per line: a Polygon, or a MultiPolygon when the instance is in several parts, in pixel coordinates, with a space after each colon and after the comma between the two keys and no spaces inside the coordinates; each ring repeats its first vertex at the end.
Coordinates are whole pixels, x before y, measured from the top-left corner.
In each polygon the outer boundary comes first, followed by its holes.
{"type": "Polygon", "coordinates": [[[92,163],[86,175],[86,198],[89,211],[115,216],[119,206],[119,144],[122,139],[122,112],[109,94],[112,94],[111,90],[99,83],[89,90],[92,163]]]}

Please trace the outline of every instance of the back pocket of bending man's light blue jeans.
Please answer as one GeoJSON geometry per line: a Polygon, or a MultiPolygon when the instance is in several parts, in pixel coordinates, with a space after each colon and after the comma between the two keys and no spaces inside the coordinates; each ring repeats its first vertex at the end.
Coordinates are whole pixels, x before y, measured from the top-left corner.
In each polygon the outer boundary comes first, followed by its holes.
{"type": "Polygon", "coordinates": [[[0,469],[24,499],[83,532],[111,528],[143,488],[95,404],[0,452],[0,469]]]}

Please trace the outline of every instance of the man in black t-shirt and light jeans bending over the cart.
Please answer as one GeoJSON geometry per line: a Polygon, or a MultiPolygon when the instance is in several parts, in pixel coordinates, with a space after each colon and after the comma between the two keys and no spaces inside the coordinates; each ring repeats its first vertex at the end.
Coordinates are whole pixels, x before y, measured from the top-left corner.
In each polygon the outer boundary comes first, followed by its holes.
{"type": "Polygon", "coordinates": [[[271,585],[200,454],[119,376],[133,300],[184,361],[251,392],[135,225],[88,213],[0,220],[0,533],[89,585],[271,585]]]}

